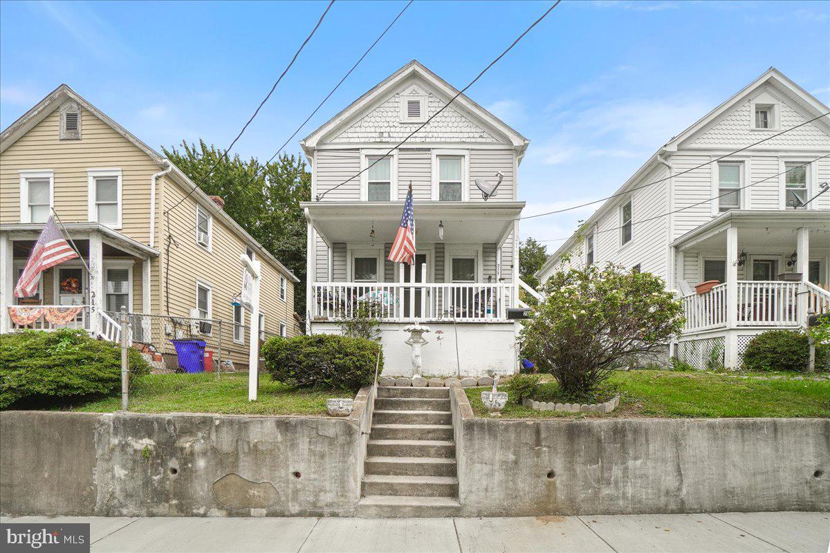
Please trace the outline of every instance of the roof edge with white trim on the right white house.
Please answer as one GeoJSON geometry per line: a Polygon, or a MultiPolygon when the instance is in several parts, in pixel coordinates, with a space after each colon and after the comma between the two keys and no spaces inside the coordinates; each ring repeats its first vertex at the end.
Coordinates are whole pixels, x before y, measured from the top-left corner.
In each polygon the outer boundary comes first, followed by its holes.
{"type": "MultiPolygon", "coordinates": [[[[701,119],[698,119],[695,124],[692,124],[683,132],[672,137],[671,140],[658,148],[657,152],[653,153],[652,156],[648,158],[647,162],[643,163],[642,166],[637,169],[637,172],[635,172],[632,177],[629,177],[627,181],[623,183],[623,186],[619,187],[617,191],[613,193],[613,196],[605,201],[602,206],[599,206],[597,211],[594,211],[593,215],[588,217],[588,220],[580,225],[579,228],[583,228],[583,226],[592,226],[598,221],[599,218],[605,215],[608,210],[610,210],[613,206],[616,206],[618,203],[618,197],[616,196],[623,195],[628,189],[632,188],[637,182],[639,182],[642,177],[646,176],[648,172],[651,172],[654,168],[663,163],[662,156],[664,154],[671,155],[671,153],[675,153],[679,144],[683,143],[688,138],[691,138],[696,133],[699,133],[702,129],[706,129],[708,125],[712,124],[721,115],[734,108],[735,104],[740,103],[746,95],[751,94],[754,90],[766,85],[767,83],[777,85],[784,90],[789,90],[789,93],[793,95],[795,99],[798,99],[799,105],[801,105],[803,109],[808,110],[808,113],[813,114],[813,117],[818,117],[830,111],[828,106],[824,105],[807,90],[804,90],[801,86],[793,82],[793,80],[790,80],[786,75],[781,73],[781,71],[775,69],[774,67],[770,67],[768,70],[764,71],[763,75],[760,75],[738,93],[732,95],[730,99],[727,99],[715,109],[712,109],[708,114],[703,116],[701,119]]],[[[828,120],[827,117],[817,119],[813,121],[813,123],[819,124],[823,127],[823,129],[825,129],[826,132],[828,132],[828,134],[830,134],[830,120],[828,120]]],[[[559,261],[559,257],[574,247],[574,244],[579,236],[578,231],[579,230],[575,230],[574,234],[571,235],[568,240],[560,245],[553,254],[549,255],[548,260],[545,261],[542,269],[539,270],[539,274],[544,274],[552,269],[554,264],[559,261]]]]}

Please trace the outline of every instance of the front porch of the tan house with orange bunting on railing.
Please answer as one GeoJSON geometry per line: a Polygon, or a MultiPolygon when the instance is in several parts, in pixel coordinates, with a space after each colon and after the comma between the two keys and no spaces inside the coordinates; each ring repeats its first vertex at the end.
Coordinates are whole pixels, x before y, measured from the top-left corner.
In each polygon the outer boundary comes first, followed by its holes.
{"type": "Polygon", "coordinates": [[[158,252],[98,223],[68,223],[66,230],[90,270],[79,259],[66,261],[41,274],[36,295],[15,298],[41,225],[0,226],[0,332],[82,328],[117,342],[122,305],[150,312],[151,259],[158,252]]]}

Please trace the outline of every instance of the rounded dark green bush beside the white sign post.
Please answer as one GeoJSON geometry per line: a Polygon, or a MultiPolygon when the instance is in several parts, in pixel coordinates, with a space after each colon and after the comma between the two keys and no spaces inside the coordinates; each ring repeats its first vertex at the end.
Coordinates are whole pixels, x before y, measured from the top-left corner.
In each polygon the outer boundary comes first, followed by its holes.
{"type": "Polygon", "coordinates": [[[300,388],[358,390],[374,382],[375,361],[383,351],[366,338],[312,334],[293,338],[273,337],[262,347],[271,378],[300,388]]]}

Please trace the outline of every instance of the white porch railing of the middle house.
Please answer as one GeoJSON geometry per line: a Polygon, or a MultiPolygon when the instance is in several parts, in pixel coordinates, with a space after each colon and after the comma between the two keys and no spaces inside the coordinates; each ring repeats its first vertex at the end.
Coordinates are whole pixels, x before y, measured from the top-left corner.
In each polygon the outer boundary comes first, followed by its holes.
{"type": "Polygon", "coordinates": [[[316,321],[336,321],[354,317],[363,303],[383,321],[486,323],[507,320],[513,292],[513,284],[315,283],[310,310],[316,321]]]}

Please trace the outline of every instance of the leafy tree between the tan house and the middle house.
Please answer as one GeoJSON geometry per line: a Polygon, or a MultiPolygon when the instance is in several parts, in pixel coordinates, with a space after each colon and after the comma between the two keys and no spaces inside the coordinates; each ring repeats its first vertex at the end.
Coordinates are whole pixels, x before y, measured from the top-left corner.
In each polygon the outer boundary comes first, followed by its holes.
{"type": "MultiPolygon", "coordinates": [[[[222,196],[224,211],[305,283],[305,219],[300,201],[311,199],[311,173],[299,157],[280,154],[263,166],[199,140],[162,148],[164,155],[210,195],[222,196]],[[210,172],[211,167],[216,168],[210,172]],[[208,172],[210,174],[208,175],[208,172]]],[[[305,294],[294,308],[305,319],[305,294]]]]}

